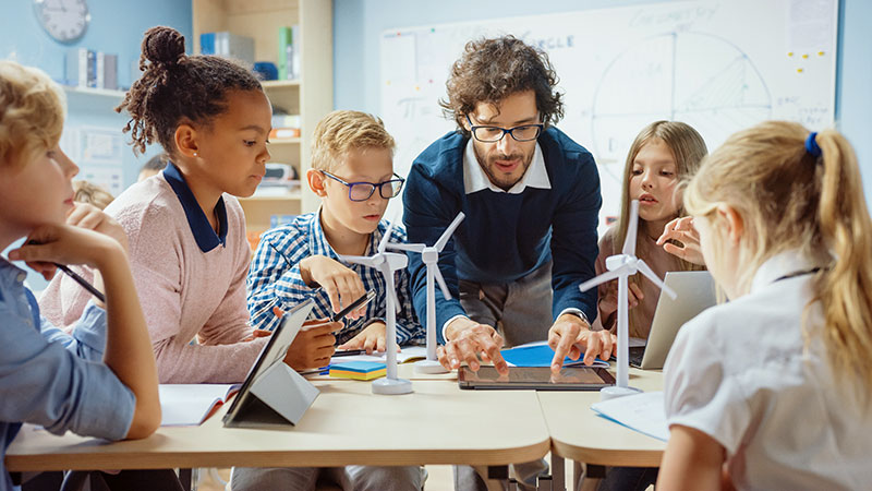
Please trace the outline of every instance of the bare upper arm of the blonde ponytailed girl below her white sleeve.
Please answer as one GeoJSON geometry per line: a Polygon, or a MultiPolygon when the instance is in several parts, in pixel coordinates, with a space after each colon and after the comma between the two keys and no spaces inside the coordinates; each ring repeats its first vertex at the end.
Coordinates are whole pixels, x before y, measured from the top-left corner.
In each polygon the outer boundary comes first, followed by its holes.
{"type": "Polygon", "coordinates": [[[658,490],[720,490],[726,452],[690,427],[673,424],[657,476],[658,490]]]}

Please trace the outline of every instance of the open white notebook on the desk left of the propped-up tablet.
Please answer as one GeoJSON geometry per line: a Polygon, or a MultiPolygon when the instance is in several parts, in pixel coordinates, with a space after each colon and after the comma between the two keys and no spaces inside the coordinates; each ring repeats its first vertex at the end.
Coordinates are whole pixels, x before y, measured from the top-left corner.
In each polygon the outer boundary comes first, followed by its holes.
{"type": "Polygon", "coordinates": [[[239,392],[241,384],[160,384],[160,426],[198,426],[239,392]]]}

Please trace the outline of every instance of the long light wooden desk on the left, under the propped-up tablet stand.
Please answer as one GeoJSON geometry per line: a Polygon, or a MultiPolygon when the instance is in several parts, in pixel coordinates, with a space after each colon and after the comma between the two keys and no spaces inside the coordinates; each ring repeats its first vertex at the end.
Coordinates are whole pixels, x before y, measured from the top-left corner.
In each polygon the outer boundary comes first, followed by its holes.
{"type": "Polygon", "coordinates": [[[10,471],[167,467],[469,464],[501,466],[550,448],[532,391],[461,391],[415,381],[382,396],[370,383],[314,381],[320,395],[284,431],[228,429],[226,409],[203,426],[160,428],[145,440],[107,443],[25,426],[7,452],[10,471]]]}

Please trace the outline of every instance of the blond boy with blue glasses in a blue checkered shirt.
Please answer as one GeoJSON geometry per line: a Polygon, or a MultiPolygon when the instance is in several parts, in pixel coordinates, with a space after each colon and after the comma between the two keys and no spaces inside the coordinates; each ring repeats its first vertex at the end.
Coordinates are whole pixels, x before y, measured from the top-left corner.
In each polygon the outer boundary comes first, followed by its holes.
{"type": "MultiPolygon", "coordinates": [[[[315,128],[312,169],[306,178],[320,196],[320,208],[261,236],[249,272],[252,324],[272,330],[274,309],[288,310],[313,298],[313,315],[328,318],[362,297],[376,297],[346,316],[336,333],[338,349],[385,350],[386,286],[373,268],[347,264],[339,255],[372,255],[387,231],[382,219],[388,200],[399,194],[403,179],[393,173],[393,137],[382,120],[364,112],[334,111],[315,128]]],[[[391,242],[405,242],[397,225],[391,242]]],[[[424,330],[412,308],[409,275],[397,272],[397,343],[424,343],[424,330]]],[[[343,489],[421,489],[421,468],[347,466],[344,468],[233,469],[233,489],[314,489],[318,479],[343,489]],[[291,484],[292,483],[292,484],[291,484]],[[289,488],[290,486],[290,488],[289,488]]]]}

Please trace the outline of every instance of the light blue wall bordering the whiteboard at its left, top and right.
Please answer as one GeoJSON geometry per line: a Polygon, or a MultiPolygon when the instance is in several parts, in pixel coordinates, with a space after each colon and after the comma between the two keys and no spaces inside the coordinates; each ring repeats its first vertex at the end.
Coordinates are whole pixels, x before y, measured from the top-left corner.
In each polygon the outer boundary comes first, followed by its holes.
{"type": "MultiPolygon", "coordinates": [[[[378,39],[385,29],[650,2],[334,0],[334,104],[337,109],[378,113],[378,39]]],[[[869,26],[872,26],[871,1],[840,0],[836,120],[857,149],[867,200],[872,201],[872,41],[869,26]]]]}

